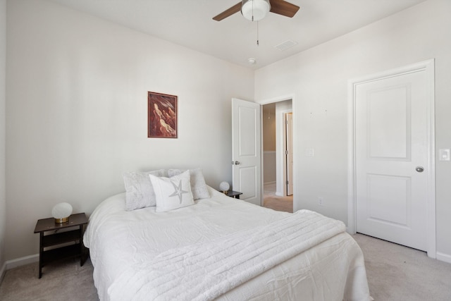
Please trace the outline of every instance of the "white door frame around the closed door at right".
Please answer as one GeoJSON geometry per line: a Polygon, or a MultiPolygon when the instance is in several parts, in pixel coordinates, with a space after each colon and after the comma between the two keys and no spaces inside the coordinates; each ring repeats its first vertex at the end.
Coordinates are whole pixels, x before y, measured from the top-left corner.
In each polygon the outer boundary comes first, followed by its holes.
{"type": "Polygon", "coordinates": [[[355,161],[355,140],[356,140],[356,121],[355,121],[355,102],[356,87],[365,82],[381,78],[390,78],[397,75],[413,73],[418,71],[426,72],[428,97],[427,102],[427,148],[428,148],[428,179],[427,179],[427,214],[426,214],[426,235],[427,235],[427,253],[428,257],[436,258],[435,245],[435,95],[434,95],[434,59],[413,63],[408,66],[394,68],[382,71],[372,75],[366,75],[362,78],[348,80],[348,171],[347,171],[347,232],[355,234],[356,227],[356,161],[355,161]]]}

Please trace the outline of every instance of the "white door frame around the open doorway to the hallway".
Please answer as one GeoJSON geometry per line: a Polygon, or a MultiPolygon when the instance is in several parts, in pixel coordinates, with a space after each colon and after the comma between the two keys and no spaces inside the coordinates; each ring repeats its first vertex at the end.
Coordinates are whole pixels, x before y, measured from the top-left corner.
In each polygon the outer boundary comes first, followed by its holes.
{"type": "MultiPolygon", "coordinates": [[[[256,100],[255,102],[257,103],[257,104],[260,104],[260,106],[261,106],[261,110],[263,110],[263,105],[264,104],[273,104],[273,103],[275,103],[275,102],[285,102],[285,100],[292,100],[292,104],[291,104],[291,110],[287,110],[286,112],[285,111],[283,111],[283,113],[287,113],[288,111],[290,111],[290,112],[294,112],[295,111],[295,94],[285,94],[285,95],[282,95],[282,96],[278,96],[278,97],[273,97],[273,98],[270,98],[270,99],[262,99],[262,100],[256,100]]],[[[261,128],[263,128],[263,120],[261,120],[261,128]]],[[[293,120],[292,120],[292,136],[293,136],[293,139],[292,139],[292,142],[293,142],[293,155],[295,155],[296,154],[296,118],[295,118],[295,116],[294,116],[294,114],[293,114],[293,120]]],[[[263,152],[263,130],[261,130],[261,139],[260,139],[261,141],[260,141],[260,143],[261,143],[261,152],[263,152]]],[[[276,143],[278,143],[277,141],[276,141],[276,143]]],[[[278,155],[278,154],[276,154],[276,155],[278,155]]],[[[278,160],[278,158],[276,158],[276,161],[278,160]]],[[[263,153],[261,154],[261,205],[263,206],[263,196],[264,196],[264,183],[263,183],[263,173],[264,173],[264,170],[263,170],[263,168],[264,168],[264,165],[263,165],[263,153]]],[[[285,176],[284,176],[284,178],[285,178],[285,176]]],[[[297,178],[297,168],[296,168],[296,164],[293,164],[293,183],[296,183],[296,178],[297,178]]],[[[276,181],[277,181],[278,179],[276,178],[276,181]]],[[[297,188],[296,188],[296,186],[297,185],[294,185],[294,187],[293,187],[293,195],[295,195],[295,193],[297,192],[297,188]]],[[[284,187],[284,194],[286,195],[286,187],[285,187],[285,185],[283,185],[283,187],[284,187]]],[[[294,211],[294,207],[295,207],[295,199],[293,198],[293,211],[294,211]]]]}

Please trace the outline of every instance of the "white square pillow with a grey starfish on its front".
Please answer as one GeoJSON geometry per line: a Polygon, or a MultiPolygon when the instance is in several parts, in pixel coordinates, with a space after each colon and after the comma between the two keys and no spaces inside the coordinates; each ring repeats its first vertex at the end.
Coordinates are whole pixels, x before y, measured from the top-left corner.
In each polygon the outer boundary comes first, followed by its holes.
{"type": "Polygon", "coordinates": [[[190,171],[171,178],[149,174],[156,196],[156,212],[165,212],[194,204],[191,193],[190,171]]]}

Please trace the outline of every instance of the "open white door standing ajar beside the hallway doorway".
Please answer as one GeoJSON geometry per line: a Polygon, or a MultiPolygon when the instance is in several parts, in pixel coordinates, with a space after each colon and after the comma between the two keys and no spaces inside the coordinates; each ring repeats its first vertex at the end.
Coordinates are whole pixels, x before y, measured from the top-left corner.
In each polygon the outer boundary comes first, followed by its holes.
{"type": "Polygon", "coordinates": [[[261,205],[260,104],[232,99],[232,185],[240,199],[261,205]]]}

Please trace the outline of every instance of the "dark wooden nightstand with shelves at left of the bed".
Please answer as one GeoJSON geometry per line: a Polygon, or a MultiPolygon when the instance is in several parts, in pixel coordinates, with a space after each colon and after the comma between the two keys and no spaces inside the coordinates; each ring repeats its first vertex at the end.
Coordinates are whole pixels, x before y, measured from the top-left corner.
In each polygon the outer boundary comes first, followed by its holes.
{"type": "Polygon", "coordinates": [[[72,214],[66,223],[55,223],[53,217],[37,221],[35,233],[39,233],[39,278],[42,277],[42,267],[49,262],[80,257],[80,266],[85,263],[87,250],[83,245],[82,238],[83,226],[86,224],[85,213],[72,214]],[[59,232],[61,229],[70,227],[73,230],[59,232]],[[70,244],[70,242],[73,243],[70,244]]]}

